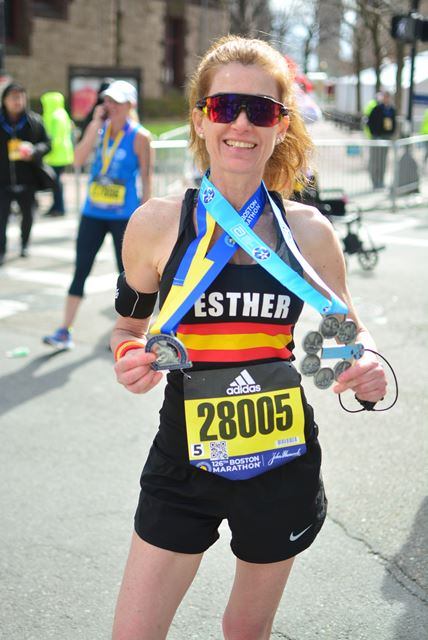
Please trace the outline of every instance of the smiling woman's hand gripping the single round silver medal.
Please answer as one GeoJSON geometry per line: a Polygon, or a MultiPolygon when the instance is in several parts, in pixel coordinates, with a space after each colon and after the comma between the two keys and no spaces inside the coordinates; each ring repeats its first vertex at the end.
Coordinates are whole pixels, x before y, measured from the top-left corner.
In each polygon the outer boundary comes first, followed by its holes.
{"type": "Polygon", "coordinates": [[[131,393],[147,393],[163,378],[161,371],[150,366],[155,360],[155,354],[144,349],[127,351],[114,365],[117,381],[131,393]]]}

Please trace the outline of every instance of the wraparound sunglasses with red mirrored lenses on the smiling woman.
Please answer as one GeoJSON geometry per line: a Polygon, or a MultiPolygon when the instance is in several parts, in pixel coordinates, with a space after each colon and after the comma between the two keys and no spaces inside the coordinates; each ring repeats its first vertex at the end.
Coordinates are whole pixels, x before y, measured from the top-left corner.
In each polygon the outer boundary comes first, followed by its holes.
{"type": "Polygon", "coordinates": [[[246,93],[216,93],[198,100],[196,108],[201,109],[211,122],[222,124],[233,122],[245,109],[248,120],[256,127],[273,127],[288,115],[282,102],[246,93]]]}

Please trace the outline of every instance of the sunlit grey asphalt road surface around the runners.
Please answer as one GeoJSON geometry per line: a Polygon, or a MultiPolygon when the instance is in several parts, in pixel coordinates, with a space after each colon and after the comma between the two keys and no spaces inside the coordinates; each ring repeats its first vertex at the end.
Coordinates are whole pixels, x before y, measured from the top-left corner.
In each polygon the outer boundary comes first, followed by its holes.
{"type": "MultiPolygon", "coordinates": [[[[350,257],[350,286],[396,370],[399,401],[389,412],[350,415],[331,392],[306,384],[329,514],[296,561],[274,624],[278,640],[428,637],[428,209],[408,204],[366,220],[387,248],[372,272],[350,257]]],[[[0,637],[7,640],[109,638],[161,403],[162,387],[134,397],[114,379],[109,242],[75,325],[76,349],[55,354],[41,343],[60,322],[75,229],[73,214],[40,218],[24,260],[13,221],[0,272],[0,637]],[[28,356],[6,357],[20,346],[28,356]]],[[[316,323],[305,312],[297,341],[316,323]]],[[[220,640],[233,570],[222,526],[171,640],[220,640]]]]}

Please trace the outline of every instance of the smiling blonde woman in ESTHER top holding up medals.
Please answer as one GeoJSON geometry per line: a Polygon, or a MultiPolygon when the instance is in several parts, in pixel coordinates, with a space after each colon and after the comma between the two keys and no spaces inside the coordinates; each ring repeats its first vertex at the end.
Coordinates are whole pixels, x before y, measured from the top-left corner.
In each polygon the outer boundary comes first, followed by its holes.
{"type": "MultiPolygon", "coordinates": [[[[292,364],[303,300],[323,305],[330,328],[347,315],[359,342],[373,342],[330,224],[283,198],[311,149],[283,57],[259,40],[219,40],[191,79],[189,106],[201,189],[150,200],[124,238],[116,376],[139,394],[169,374],[113,638],[166,638],[226,519],[236,573],[223,634],[266,640],[294,557],[326,515],[318,429],[292,364]]],[[[337,376],[333,391],[345,389],[383,397],[373,355],[337,376]]]]}

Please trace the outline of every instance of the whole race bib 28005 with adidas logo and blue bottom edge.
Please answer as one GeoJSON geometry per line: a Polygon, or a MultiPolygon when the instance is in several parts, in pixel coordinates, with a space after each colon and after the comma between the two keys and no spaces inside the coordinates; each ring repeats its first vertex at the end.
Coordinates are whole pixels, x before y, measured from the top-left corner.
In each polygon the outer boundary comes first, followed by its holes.
{"type": "Polygon", "coordinates": [[[288,362],[184,378],[190,463],[245,480],[306,453],[300,376],[288,362]]]}

